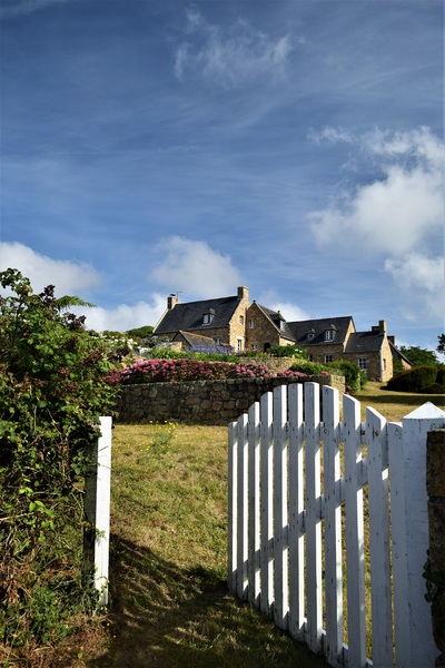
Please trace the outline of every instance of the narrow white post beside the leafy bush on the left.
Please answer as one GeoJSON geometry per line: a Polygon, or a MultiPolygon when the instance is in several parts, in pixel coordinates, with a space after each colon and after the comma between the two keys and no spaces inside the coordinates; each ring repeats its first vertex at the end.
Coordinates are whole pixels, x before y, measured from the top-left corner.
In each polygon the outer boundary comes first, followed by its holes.
{"type": "Polygon", "coordinates": [[[101,435],[92,451],[91,475],[86,479],[85,513],[90,524],[87,566],[95,571],[99,606],[108,603],[108,561],[110,546],[111,426],[110,416],[100,418],[101,435]],[[89,552],[89,554],[88,554],[89,552]]]}

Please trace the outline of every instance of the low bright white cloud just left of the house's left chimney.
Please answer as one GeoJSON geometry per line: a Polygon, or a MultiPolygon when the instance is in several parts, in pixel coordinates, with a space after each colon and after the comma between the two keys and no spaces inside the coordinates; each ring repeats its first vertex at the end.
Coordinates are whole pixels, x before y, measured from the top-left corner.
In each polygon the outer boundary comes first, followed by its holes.
{"type": "Polygon", "coordinates": [[[152,302],[138,302],[135,306],[120,304],[117,308],[72,308],[78,315],[86,315],[86,326],[96,332],[109,330],[112,332],[127,332],[145,325],[155,326],[166,310],[165,295],[151,295],[152,302]]]}

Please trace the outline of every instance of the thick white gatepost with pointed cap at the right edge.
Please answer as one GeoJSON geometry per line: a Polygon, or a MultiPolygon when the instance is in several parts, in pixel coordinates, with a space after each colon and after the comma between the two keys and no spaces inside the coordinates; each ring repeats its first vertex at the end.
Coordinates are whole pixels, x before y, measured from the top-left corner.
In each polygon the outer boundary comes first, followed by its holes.
{"type": "MultiPolygon", "coordinates": [[[[445,423],[445,412],[431,402],[403,420],[402,453],[393,468],[402,468],[403,489],[399,494],[400,517],[393,528],[397,546],[397,570],[404,596],[395,596],[395,633],[397,668],[434,666],[437,654],[431,617],[425,600],[426,583],[422,577],[429,544],[426,493],[426,439],[428,431],[445,423]]],[[[389,456],[392,453],[389,452],[389,456]]],[[[393,509],[395,499],[392,500],[393,509]]]]}

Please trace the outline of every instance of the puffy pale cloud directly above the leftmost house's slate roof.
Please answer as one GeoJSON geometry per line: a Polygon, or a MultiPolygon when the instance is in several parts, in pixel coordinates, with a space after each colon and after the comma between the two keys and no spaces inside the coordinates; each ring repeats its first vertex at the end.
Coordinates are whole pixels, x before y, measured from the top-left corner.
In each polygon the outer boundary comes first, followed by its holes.
{"type": "Polygon", "coordinates": [[[152,269],[151,278],[171,293],[208,298],[234,294],[234,289],[243,285],[230,257],[205,242],[171,236],[159,242],[156,253],[161,259],[152,269]]]}

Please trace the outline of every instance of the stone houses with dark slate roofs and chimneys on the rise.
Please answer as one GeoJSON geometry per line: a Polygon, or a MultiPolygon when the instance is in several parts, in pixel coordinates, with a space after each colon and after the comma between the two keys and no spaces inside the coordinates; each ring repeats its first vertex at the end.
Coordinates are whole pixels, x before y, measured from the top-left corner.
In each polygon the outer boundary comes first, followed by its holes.
{"type": "Polygon", "coordinates": [[[348,360],[382,382],[393,376],[393,360],[404,367],[409,362],[388,336],[386,321],[369,332],[357,332],[352,316],[288,323],[276,311],[249,303],[249,291],[238,287],[237,295],[181,304],[175,295],[154,330],[160,343],[174,347],[227,344],[238,352],[266,352],[275,345],[296,344],[306,350],[313,362],[348,360]],[[207,342],[207,343],[206,343],[207,342]]]}

